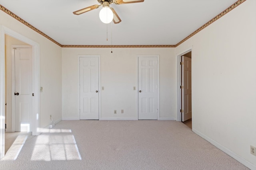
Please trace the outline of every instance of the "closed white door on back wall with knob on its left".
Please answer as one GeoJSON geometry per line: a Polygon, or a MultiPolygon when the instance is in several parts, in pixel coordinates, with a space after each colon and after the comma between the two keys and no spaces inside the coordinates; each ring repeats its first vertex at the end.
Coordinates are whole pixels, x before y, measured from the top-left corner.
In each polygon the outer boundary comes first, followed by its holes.
{"type": "Polygon", "coordinates": [[[138,57],[138,119],[158,119],[157,70],[157,57],[138,57]]]}

